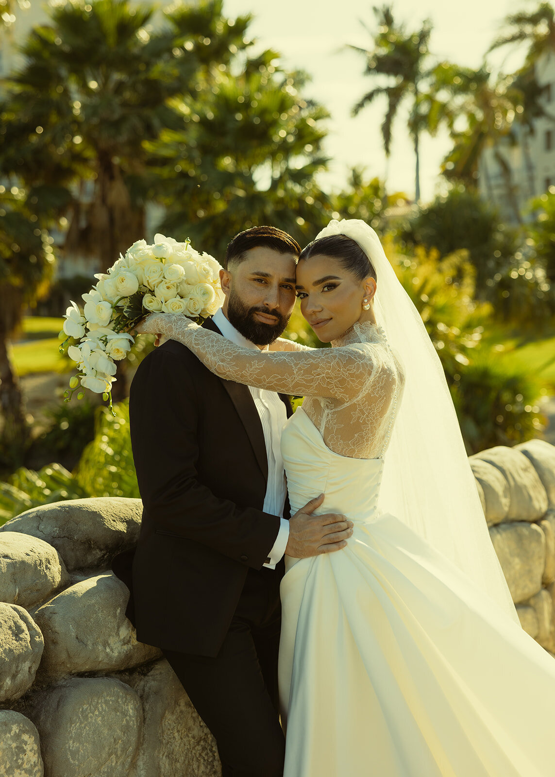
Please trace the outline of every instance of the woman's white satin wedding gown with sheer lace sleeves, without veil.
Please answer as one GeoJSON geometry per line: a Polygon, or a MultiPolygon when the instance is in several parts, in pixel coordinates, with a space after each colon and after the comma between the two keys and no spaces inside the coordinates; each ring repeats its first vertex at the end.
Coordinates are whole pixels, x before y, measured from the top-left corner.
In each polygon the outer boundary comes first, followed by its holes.
{"type": "Polygon", "coordinates": [[[282,436],[291,514],[325,493],[320,513],[354,521],[345,549],[286,557],[284,777],[553,777],[555,660],[380,510],[404,379],[383,329],[357,323],[330,349],[281,340],[261,353],[182,317],[147,323],[222,378],[305,395],[282,436]]]}

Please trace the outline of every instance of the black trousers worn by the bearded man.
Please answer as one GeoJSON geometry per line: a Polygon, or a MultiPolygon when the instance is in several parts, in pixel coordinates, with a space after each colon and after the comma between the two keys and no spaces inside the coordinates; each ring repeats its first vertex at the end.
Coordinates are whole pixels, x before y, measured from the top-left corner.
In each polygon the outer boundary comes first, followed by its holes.
{"type": "Polygon", "coordinates": [[[162,650],[214,734],[223,777],[282,777],[278,720],[279,580],[249,570],[229,632],[215,658],[162,650]]]}

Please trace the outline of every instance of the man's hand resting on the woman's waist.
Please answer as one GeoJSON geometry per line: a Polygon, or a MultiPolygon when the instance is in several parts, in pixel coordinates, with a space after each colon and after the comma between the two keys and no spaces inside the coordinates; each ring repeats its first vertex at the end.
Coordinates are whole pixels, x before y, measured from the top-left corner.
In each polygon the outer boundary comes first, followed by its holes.
{"type": "Polygon", "coordinates": [[[321,553],[332,553],[347,545],[347,539],[353,533],[352,521],[336,513],[312,514],[323,500],[322,493],[290,518],[289,539],[285,549],[287,556],[305,559],[309,556],[319,556],[321,553]]]}

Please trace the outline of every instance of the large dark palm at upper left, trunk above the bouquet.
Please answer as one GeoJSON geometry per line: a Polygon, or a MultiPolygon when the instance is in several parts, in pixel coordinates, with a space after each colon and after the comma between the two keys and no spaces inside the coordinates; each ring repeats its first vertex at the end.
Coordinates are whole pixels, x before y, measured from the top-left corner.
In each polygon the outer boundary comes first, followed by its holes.
{"type": "Polygon", "coordinates": [[[32,187],[37,212],[68,215],[65,250],[102,270],[144,236],[143,143],[179,123],[168,99],[196,97],[203,72],[246,47],[250,17],[224,19],[222,0],[179,6],[157,32],[153,13],[128,0],[56,6],[0,106],[0,168],[32,187]]]}

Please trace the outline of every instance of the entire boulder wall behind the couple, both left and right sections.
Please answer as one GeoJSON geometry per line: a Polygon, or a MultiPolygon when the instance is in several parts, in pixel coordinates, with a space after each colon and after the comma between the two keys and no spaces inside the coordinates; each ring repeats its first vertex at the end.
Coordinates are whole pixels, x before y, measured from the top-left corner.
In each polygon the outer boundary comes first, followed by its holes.
{"type": "MultiPolygon", "coordinates": [[[[470,458],[523,628],[555,653],[555,447],[470,458]]],[[[137,642],[110,560],[139,500],[28,510],[0,528],[0,777],[219,777],[211,734],[137,642]]]]}

